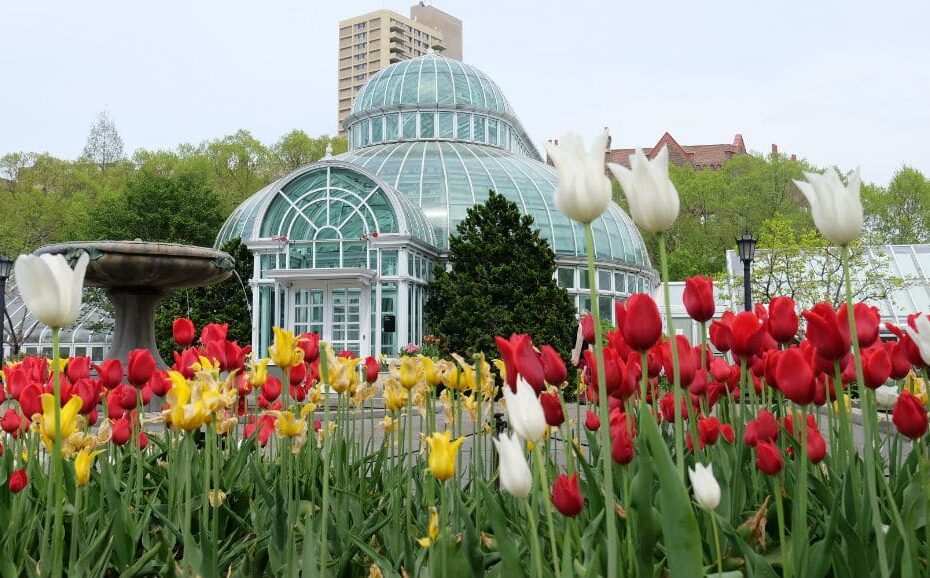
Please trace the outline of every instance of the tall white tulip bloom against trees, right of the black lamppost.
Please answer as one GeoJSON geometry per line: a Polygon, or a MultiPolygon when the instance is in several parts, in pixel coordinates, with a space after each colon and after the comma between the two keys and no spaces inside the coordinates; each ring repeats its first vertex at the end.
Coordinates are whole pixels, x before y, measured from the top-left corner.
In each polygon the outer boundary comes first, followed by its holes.
{"type": "Polygon", "coordinates": [[[862,201],[859,199],[859,169],[843,185],[834,170],[825,174],[804,173],[805,181],[794,181],[811,206],[820,234],[837,245],[848,245],[862,233],[862,201]]]}

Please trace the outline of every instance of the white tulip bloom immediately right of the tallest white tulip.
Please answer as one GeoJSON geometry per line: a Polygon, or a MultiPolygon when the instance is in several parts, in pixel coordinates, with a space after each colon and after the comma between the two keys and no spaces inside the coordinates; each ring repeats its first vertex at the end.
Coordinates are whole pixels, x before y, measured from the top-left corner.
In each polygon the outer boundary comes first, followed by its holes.
{"type": "Polygon", "coordinates": [[[607,168],[620,183],[630,216],[641,229],[661,233],[675,223],[680,202],[678,191],[668,178],[666,147],[651,161],[642,150],[636,150],[630,155],[630,168],[616,163],[607,163],[607,168]]]}

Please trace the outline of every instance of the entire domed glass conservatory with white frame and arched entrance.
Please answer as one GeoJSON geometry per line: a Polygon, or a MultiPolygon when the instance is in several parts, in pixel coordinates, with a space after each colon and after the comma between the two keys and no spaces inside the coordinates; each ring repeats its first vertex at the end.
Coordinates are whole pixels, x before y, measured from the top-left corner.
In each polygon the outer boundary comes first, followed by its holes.
{"type": "MultiPolygon", "coordinates": [[[[337,349],[397,355],[419,344],[426,285],[470,207],[497,191],[534,219],[556,254],[559,285],[590,310],[584,229],[555,208],[543,162],[494,81],[426,55],[369,80],[344,126],[349,151],[302,167],[246,199],[216,246],[240,238],[255,257],[253,343],[271,327],[314,331],[337,349]]],[[[593,223],[597,304],[648,291],[656,273],[616,204],[593,223]]]]}

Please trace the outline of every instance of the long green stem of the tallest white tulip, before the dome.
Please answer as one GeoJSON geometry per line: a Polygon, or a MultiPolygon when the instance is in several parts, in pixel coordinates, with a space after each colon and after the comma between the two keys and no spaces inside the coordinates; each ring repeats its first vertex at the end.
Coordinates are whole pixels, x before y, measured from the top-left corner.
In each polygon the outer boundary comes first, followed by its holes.
{"type": "MultiPolygon", "coordinates": [[[[598,376],[598,405],[601,414],[601,429],[598,432],[601,438],[600,458],[604,484],[604,504],[606,515],[604,523],[607,525],[607,578],[617,577],[617,518],[614,515],[614,475],[613,463],[610,457],[610,412],[607,403],[607,384],[604,372],[604,329],[601,327],[601,315],[597,298],[597,274],[594,270],[594,235],[591,232],[591,223],[584,226],[585,253],[588,257],[588,287],[591,292],[591,317],[594,320],[594,356],[597,359],[598,376]]],[[[527,506],[529,507],[529,506],[527,506]]],[[[535,524],[531,527],[534,527],[535,524]]],[[[531,534],[533,532],[530,532],[531,534]]],[[[540,573],[542,568],[540,567],[540,573]]]]}

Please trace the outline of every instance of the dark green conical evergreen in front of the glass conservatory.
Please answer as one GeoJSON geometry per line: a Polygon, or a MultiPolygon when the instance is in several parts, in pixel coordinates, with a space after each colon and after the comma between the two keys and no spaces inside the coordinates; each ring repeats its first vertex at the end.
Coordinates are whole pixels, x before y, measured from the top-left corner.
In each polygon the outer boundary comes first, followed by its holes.
{"type": "Polygon", "coordinates": [[[447,352],[492,353],[495,335],[529,333],[537,345],[567,353],[575,308],[554,272],[555,254],[533,218],[491,191],[450,237],[449,270],[434,271],[426,302],[430,330],[447,352]]]}

